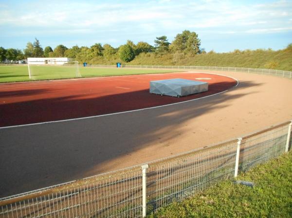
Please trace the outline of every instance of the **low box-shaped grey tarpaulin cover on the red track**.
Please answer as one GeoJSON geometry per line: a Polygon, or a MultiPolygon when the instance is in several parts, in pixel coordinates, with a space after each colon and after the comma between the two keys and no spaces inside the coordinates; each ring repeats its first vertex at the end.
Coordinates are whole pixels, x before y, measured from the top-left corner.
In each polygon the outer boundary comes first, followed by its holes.
{"type": "Polygon", "coordinates": [[[150,93],[154,94],[180,97],[205,91],[208,91],[206,82],[180,78],[150,81],[150,93]]]}

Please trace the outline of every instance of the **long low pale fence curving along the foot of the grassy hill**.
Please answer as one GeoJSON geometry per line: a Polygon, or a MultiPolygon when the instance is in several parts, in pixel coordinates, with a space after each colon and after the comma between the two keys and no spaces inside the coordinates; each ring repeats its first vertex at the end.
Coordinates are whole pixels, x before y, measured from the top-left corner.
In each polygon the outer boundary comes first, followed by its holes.
{"type": "MultiPolygon", "coordinates": [[[[116,67],[116,65],[87,65],[87,67],[116,67]]],[[[122,68],[148,68],[148,69],[177,69],[177,70],[217,70],[244,73],[272,75],[292,79],[292,71],[278,69],[259,69],[246,67],[203,67],[203,66],[152,66],[152,65],[121,65],[122,68]]]]}

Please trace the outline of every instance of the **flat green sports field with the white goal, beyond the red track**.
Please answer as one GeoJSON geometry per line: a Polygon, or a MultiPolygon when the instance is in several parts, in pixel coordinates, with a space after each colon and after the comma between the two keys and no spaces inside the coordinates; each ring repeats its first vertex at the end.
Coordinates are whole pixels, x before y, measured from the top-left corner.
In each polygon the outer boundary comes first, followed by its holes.
{"type": "MultiPolygon", "coordinates": [[[[32,80],[62,79],[76,77],[72,66],[31,66],[32,80]]],[[[131,68],[100,68],[79,67],[82,77],[116,76],[131,74],[166,73],[177,70],[169,69],[131,69],[131,68]]],[[[0,83],[30,81],[26,65],[0,66],[0,83]]]]}

